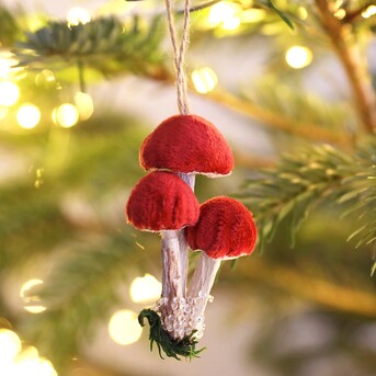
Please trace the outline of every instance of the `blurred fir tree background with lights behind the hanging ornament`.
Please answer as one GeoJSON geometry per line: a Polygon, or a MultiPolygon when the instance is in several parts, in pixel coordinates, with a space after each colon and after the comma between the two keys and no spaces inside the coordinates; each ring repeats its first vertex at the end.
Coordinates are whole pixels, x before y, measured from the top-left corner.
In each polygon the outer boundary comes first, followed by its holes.
{"type": "Polygon", "coordinates": [[[375,375],[376,4],[192,7],[192,112],[236,159],[196,195],[246,203],[259,243],[178,362],[137,322],[160,238],[124,215],[143,139],[178,113],[164,4],[0,0],[0,375],[375,375]]]}

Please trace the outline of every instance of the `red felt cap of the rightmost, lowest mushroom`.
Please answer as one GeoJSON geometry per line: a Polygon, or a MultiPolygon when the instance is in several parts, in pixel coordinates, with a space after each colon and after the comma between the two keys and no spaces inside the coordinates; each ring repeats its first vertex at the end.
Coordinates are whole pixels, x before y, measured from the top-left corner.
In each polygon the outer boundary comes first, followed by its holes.
{"type": "Polygon", "coordinates": [[[197,223],[186,228],[190,248],[202,250],[213,259],[250,254],[257,236],[251,212],[240,202],[225,196],[202,204],[197,223]]]}

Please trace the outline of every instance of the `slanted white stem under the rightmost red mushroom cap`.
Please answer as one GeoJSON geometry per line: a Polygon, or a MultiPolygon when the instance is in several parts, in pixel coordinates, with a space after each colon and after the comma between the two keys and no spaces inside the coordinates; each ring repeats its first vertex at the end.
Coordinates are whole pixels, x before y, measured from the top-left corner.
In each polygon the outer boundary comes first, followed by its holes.
{"type": "Polygon", "coordinates": [[[209,258],[201,252],[195,271],[192,276],[191,286],[187,292],[187,301],[191,303],[191,332],[196,330],[196,337],[201,337],[204,330],[204,312],[210,297],[210,290],[220,266],[220,259],[209,258]]]}

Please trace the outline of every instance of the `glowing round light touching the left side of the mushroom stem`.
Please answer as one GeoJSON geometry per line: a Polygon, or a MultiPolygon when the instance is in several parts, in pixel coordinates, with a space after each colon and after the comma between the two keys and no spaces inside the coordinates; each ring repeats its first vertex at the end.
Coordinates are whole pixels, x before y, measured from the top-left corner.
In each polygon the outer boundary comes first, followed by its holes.
{"type": "Polygon", "coordinates": [[[135,303],[155,301],[160,298],[162,284],[151,274],[136,277],[129,287],[130,298],[135,303]]]}

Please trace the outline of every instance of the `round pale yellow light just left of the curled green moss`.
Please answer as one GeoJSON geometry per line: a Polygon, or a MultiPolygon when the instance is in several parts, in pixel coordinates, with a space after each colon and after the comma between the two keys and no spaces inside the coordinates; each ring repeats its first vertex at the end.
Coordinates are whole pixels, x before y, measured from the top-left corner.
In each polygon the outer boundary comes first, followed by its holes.
{"type": "Polygon", "coordinates": [[[121,345],[137,342],[143,333],[137,314],[129,309],[115,312],[109,322],[109,333],[111,339],[121,345]]]}

